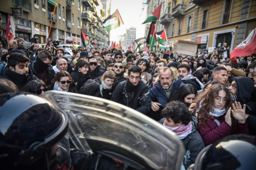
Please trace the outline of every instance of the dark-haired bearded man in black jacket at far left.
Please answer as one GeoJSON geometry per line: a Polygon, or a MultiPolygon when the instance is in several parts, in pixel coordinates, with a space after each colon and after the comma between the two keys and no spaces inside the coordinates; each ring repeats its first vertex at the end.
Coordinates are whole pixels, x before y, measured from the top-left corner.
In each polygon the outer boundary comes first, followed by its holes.
{"type": "Polygon", "coordinates": [[[28,67],[29,63],[28,57],[21,53],[10,54],[7,66],[4,68],[5,75],[3,78],[14,82],[18,89],[21,90],[28,82],[38,80],[32,74],[30,67],[28,67]]]}

